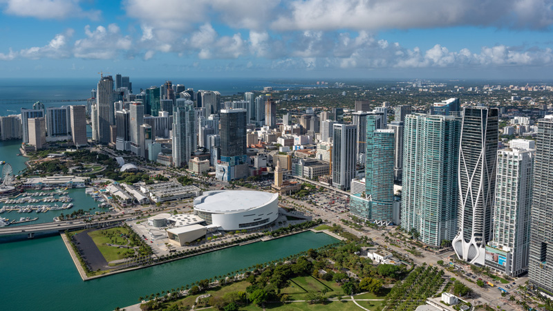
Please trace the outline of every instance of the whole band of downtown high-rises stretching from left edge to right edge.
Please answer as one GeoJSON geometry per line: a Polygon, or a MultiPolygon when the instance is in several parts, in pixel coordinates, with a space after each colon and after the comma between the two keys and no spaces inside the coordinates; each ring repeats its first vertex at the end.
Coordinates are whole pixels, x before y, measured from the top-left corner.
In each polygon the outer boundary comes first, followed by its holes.
{"type": "Polygon", "coordinates": [[[516,126],[518,133],[537,130],[538,140],[511,140],[500,149],[500,111],[461,107],[458,98],[435,102],[427,113],[388,102],[371,109],[374,103],[356,100],[354,111],[307,107],[282,112],[280,122],[271,93],[223,102],[218,91],[167,81],[133,94],[129,80],[116,75],[102,77],[92,95],[89,107],[37,103],[0,117],[1,138],[21,138],[36,149],[62,139],[104,144],[194,173],[213,167],[225,181],[274,167],[279,191],[297,189],[285,182],[289,175],[350,191],[350,213],[363,220],[401,225],[431,247],[451,243],[458,258],[509,276],[529,271],[531,284],[553,290],[543,230],[553,229],[546,208],[553,176],[543,169],[553,150],[552,117],[537,126],[529,117],[513,118],[503,134],[516,126]],[[535,217],[539,226],[530,221],[535,217]]]}

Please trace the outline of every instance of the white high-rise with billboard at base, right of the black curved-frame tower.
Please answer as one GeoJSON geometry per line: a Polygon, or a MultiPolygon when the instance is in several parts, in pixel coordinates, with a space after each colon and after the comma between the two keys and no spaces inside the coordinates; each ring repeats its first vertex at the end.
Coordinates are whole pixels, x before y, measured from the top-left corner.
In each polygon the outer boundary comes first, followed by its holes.
{"type": "Polygon", "coordinates": [[[498,151],[494,234],[485,265],[509,276],[528,269],[533,167],[533,149],[498,151]]]}

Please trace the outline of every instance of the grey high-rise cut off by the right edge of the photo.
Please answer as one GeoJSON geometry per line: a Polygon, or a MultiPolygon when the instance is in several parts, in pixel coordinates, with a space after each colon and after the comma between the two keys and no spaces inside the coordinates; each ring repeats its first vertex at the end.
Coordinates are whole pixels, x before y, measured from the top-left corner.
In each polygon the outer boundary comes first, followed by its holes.
{"type": "Polygon", "coordinates": [[[532,225],[530,225],[529,283],[553,292],[553,115],[538,121],[532,225]]]}

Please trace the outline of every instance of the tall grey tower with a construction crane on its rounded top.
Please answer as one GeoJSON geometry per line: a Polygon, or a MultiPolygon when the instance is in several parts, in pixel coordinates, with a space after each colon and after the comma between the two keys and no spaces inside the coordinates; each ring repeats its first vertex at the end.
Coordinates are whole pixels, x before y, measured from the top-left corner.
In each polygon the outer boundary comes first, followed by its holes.
{"type": "Polygon", "coordinates": [[[109,126],[115,124],[113,113],[113,78],[102,77],[98,82],[96,97],[97,142],[109,143],[109,126]]]}

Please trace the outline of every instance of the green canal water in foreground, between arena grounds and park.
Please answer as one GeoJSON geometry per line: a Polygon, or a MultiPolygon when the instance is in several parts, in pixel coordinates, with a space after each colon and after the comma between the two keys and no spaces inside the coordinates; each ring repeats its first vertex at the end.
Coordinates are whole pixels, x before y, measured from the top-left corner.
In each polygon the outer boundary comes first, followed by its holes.
{"type": "Polygon", "coordinates": [[[303,232],[272,241],[221,249],[141,270],[82,281],[60,236],[0,238],[2,310],[113,310],[201,279],[225,275],[337,242],[303,232]]]}

